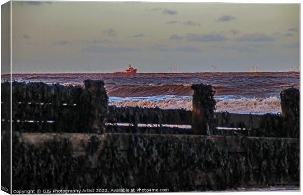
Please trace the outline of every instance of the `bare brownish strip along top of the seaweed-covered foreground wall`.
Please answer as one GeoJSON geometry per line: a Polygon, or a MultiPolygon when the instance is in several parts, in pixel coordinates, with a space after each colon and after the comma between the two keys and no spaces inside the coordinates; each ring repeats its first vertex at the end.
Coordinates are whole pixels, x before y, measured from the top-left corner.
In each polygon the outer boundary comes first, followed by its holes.
{"type": "MultiPolygon", "coordinates": [[[[233,148],[230,152],[244,152],[243,143],[240,140],[287,140],[289,143],[297,142],[296,138],[281,138],[281,137],[232,137],[232,136],[201,136],[201,135],[170,135],[170,134],[120,134],[120,133],[106,133],[106,134],[94,134],[94,133],[21,133],[20,140],[26,143],[34,144],[39,146],[40,144],[45,144],[48,141],[68,139],[74,148],[74,151],[83,152],[84,147],[88,144],[91,137],[97,137],[99,140],[105,140],[108,137],[119,137],[122,143],[128,143],[128,139],[133,136],[139,137],[176,137],[179,139],[189,139],[195,137],[205,137],[217,143],[218,146],[223,148],[233,148]]],[[[103,145],[102,147],[104,147],[103,145]]],[[[128,144],[122,144],[120,150],[128,150],[128,144]]]]}

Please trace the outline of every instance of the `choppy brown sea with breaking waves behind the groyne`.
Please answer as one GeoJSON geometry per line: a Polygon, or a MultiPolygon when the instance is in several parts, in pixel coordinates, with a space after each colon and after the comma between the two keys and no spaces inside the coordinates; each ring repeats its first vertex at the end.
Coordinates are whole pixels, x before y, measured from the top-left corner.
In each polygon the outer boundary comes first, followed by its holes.
{"type": "MultiPolygon", "coordinates": [[[[8,75],[1,76],[5,79],[8,75]]],[[[281,91],[300,89],[299,72],[13,74],[12,79],[62,85],[101,79],[110,105],[186,110],[192,109],[191,85],[203,83],[213,86],[216,112],[252,114],[281,113],[281,91]]]]}

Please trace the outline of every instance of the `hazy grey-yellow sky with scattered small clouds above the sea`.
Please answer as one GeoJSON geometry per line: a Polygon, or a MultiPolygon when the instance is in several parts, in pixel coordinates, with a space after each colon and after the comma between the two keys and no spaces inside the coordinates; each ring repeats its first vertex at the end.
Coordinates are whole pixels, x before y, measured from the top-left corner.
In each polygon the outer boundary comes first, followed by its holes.
{"type": "Polygon", "coordinates": [[[300,5],[12,2],[13,73],[110,73],[128,63],[138,72],[300,66],[300,5]]]}

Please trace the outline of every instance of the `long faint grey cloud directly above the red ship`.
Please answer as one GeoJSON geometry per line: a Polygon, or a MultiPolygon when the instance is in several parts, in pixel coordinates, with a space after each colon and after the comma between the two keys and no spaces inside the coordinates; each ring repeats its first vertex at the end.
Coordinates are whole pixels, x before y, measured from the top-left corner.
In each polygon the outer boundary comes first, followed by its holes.
{"type": "Polygon", "coordinates": [[[85,48],[81,51],[115,54],[115,53],[124,53],[124,52],[136,52],[139,50],[136,48],[132,48],[132,47],[106,47],[106,46],[99,46],[99,45],[89,45],[89,46],[87,46],[87,48],[85,48]]]}

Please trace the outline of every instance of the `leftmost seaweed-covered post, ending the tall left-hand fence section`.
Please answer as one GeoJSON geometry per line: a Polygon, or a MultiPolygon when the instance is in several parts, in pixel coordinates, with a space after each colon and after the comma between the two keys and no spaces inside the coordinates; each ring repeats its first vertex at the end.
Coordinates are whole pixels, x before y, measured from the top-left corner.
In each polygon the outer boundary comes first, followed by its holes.
{"type": "Polygon", "coordinates": [[[102,80],[84,81],[81,104],[87,129],[95,133],[104,133],[108,116],[108,96],[102,80]]]}

